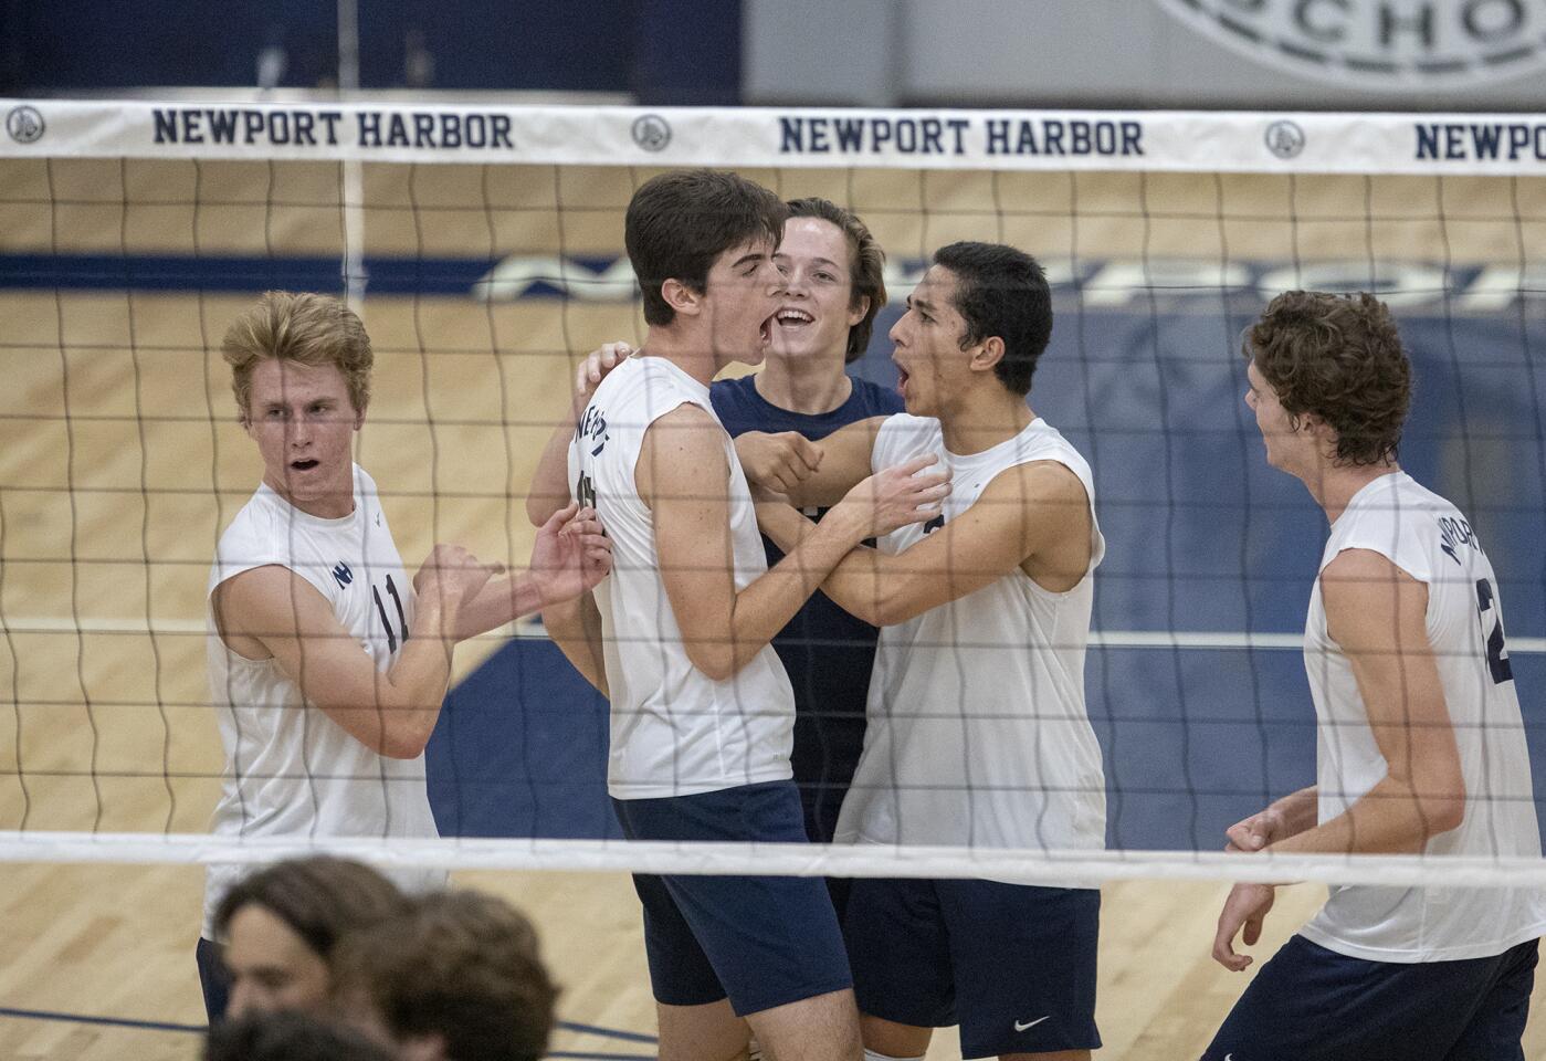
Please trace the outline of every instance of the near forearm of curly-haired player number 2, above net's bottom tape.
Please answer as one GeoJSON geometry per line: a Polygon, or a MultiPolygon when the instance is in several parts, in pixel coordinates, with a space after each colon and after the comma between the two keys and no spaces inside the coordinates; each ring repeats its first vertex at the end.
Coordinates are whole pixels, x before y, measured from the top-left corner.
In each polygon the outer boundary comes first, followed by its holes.
{"type": "Polygon", "coordinates": [[[1413,854],[1432,837],[1455,829],[1464,814],[1464,792],[1387,775],[1343,814],[1269,849],[1283,854],[1413,854]]]}

